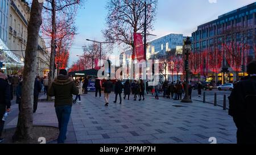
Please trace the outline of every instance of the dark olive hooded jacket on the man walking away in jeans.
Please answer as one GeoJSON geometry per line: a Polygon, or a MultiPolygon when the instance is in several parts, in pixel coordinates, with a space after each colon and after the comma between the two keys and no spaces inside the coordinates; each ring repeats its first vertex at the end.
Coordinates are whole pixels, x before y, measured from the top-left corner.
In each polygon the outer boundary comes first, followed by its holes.
{"type": "Polygon", "coordinates": [[[48,92],[50,97],[55,97],[55,107],[72,106],[73,95],[79,94],[75,82],[72,78],[60,74],[54,79],[48,92]]]}

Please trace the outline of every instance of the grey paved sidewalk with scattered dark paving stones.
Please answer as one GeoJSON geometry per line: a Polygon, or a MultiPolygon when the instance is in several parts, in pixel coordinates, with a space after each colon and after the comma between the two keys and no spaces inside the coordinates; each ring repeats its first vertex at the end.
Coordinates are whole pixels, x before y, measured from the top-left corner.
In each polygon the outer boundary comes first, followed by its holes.
{"type": "MultiPolygon", "coordinates": [[[[81,99],[81,104],[72,107],[68,144],[209,144],[209,137],[216,137],[217,143],[236,143],[233,119],[228,111],[212,104],[185,104],[162,97],[115,104],[113,93],[109,107],[104,106],[103,97],[95,98],[94,93],[82,95],[81,99]]],[[[57,127],[53,103],[39,103],[34,116],[37,125],[57,127]]],[[[17,117],[6,127],[16,121],[17,117]]]]}

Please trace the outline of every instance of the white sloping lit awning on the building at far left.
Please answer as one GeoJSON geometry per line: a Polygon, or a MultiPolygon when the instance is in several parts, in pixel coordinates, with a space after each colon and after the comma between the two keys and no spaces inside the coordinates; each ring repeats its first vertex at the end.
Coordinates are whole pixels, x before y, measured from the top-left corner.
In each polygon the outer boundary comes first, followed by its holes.
{"type": "Polygon", "coordinates": [[[3,61],[6,65],[15,64],[24,66],[24,63],[16,56],[5,43],[0,39],[0,61],[3,61]]]}

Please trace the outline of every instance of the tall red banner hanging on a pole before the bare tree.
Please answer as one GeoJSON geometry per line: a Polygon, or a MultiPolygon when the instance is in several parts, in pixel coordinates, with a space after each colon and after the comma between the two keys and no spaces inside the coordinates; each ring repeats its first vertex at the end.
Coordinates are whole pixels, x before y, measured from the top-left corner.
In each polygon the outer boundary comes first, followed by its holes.
{"type": "Polygon", "coordinates": [[[138,61],[144,59],[144,45],[141,33],[133,33],[134,35],[134,53],[138,61]]]}

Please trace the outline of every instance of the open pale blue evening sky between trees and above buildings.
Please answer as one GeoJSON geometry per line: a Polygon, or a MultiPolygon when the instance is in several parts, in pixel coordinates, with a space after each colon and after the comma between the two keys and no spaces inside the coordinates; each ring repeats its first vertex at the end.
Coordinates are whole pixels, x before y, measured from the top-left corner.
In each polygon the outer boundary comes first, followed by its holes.
{"type": "MultiPolygon", "coordinates": [[[[76,55],[82,55],[82,45],[88,44],[85,39],[104,41],[102,30],[105,27],[105,18],[108,14],[105,9],[108,0],[87,0],[79,10],[76,26],[79,33],[76,35],[71,49],[69,66],[78,60],[76,55]],[[78,48],[78,49],[76,49],[78,48]]],[[[154,35],[160,37],[168,33],[183,33],[191,36],[197,26],[217,19],[219,15],[238,9],[239,7],[255,2],[254,0],[159,0],[154,35]]],[[[152,37],[151,39],[154,39],[152,37]]],[[[115,50],[112,56],[118,56],[115,50]]],[[[118,63],[118,62],[116,62],[118,63]]]]}

